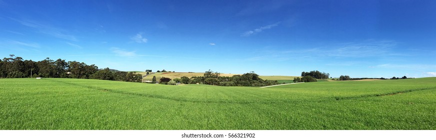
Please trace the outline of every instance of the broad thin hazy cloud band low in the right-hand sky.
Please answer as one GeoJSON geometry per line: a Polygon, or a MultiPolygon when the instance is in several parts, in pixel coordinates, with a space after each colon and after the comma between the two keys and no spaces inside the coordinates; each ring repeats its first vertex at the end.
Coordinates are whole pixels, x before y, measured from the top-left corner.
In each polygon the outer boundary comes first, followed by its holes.
{"type": "MultiPolygon", "coordinates": [[[[267,59],[328,59],[328,58],[374,58],[384,56],[408,56],[394,52],[397,42],[391,40],[382,41],[363,41],[326,44],[325,46],[311,48],[296,48],[288,50],[264,49],[256,53],[261,57],[247,58],[249,60],[267,60],[267,59]]],[[[356,62],[361,63],[361,62],[356,62]]],[[[328,63],[326,63],[328,64],[328,63]]],[[[335,63],[330,63],[337,65],[335,63]]],[[[349,64],[349,63],[348,63],[349,64]]]]}

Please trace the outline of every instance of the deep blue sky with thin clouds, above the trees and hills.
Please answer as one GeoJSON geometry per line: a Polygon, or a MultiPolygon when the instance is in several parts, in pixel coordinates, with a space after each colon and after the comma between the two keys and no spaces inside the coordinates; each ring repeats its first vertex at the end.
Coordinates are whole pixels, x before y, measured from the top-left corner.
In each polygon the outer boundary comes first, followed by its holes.
{"type": "Polygon", "coordinates": [[[0,57],[118,70],[436,76],[436,0],[0,0],[0,57]]]}

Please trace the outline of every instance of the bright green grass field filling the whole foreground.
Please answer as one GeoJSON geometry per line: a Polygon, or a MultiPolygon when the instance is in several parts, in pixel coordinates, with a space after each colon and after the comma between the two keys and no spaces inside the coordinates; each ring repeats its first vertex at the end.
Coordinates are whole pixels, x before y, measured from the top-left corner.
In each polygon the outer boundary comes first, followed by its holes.
{"type": "Polygon", "coordinates": [[[267,88],[0,79],[0,129],[436,129],[436,78],[267,88]]]}

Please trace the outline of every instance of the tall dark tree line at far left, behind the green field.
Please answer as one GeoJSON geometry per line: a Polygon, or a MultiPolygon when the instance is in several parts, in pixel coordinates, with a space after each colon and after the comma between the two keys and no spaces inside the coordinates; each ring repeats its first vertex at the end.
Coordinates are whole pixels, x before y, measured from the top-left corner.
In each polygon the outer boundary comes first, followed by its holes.
{"type": "Polygon", "coordinates": [[[95,64],[84,62],[52,60],[49,57],[40,60],[23,60],[22,57],[0,59],[0,78],[53,77],[53,78],[90,78],[141,82],[142,75],[135,72],[113,71],[109,68],[98,69],[95,64]]]}

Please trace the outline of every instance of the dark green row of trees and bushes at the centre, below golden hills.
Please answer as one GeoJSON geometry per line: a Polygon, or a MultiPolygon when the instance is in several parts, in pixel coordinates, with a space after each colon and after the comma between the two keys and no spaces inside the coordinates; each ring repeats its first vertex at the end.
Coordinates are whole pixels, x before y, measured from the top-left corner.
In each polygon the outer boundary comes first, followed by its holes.
{"type": "MultiPolygon", "coordinates": [[[[203,76],[186,77],[170,79],[167,77],[161,77],[159,83],[161,84],[209,84],[219,86],[268,86],[279,84],[277,80],[263,80],[259,78],[259,75],[252,72],[244,73],[242,75],[233,76],[219,76],[220,73],[213,72],[210,69],[205,71],[203,76]]],[[[155,81],[153,77],[153,81],[155,81]]]]}

